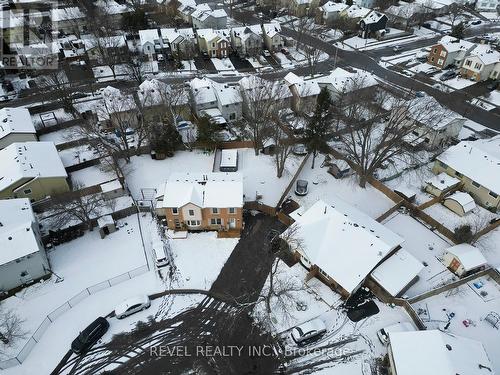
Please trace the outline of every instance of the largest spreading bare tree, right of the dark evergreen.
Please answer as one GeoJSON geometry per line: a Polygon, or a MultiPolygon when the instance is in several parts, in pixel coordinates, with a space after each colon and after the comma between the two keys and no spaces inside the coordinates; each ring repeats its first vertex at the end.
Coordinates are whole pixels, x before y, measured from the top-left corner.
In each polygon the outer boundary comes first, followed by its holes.
{"type": "Polygon", "coordinates": [[[346,90],[350,94],[341,100],[344,128],[337,136],[340,152],[356,164],[359,185],[365,187],[367,179],[389,161],[402,166],[414,163],[419,153],[409,149],[409,138],[415,144],[424,142],[443,111],[431,97],[395,98],[385,90],[362,91],[362,87],[359,79],[346,90]]]}

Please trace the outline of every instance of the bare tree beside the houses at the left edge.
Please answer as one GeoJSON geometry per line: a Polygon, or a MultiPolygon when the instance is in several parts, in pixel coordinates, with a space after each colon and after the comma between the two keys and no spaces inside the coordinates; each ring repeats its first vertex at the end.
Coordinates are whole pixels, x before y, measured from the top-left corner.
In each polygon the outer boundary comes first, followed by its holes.
{"type": "MultiPolygon", "coordinates": [[[[84,186],[75,181],[73,190],[81,190],[84,186]]],[[[92,230],[92,219],[99,216],[105,204],[102,195],[91,194],[61,194],[52,198],[51,222],[55,227],[61,228],[69,222],[84,223],[87,229],[92,230]]]]}

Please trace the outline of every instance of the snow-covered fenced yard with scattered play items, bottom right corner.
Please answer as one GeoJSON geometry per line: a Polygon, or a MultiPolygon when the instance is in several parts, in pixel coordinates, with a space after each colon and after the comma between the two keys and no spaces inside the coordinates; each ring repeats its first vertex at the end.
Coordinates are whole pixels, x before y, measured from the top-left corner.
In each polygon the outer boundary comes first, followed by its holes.
{"type": "Polygon", "coordinates": [[[491,311],[500,312],[500,286],[489,276],[426,298],[413,307],[428,329],[444,329],[449,314],[454,313],[447,331],[482,342],[493,371],[500,371],[499,331],[484,320],[491,311]],[[486,297],[480,295],[483,291],[488,293],[486,297]]]}

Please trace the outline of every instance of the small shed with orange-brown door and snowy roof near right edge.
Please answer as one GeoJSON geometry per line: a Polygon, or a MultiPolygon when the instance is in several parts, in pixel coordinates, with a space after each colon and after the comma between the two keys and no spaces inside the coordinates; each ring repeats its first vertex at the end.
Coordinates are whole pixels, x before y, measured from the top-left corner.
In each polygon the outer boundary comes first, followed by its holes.
{"type": "Polygon", "coordinates": [[[488,261],[477,247],[460,244],[446,249],[443,263],[457,276],[463,277],[484,268],[488,261]]]}

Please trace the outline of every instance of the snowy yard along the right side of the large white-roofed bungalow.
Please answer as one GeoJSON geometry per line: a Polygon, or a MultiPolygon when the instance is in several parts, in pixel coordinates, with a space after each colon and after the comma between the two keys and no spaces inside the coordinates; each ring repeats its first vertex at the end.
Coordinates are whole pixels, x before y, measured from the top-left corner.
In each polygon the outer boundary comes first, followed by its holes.
{"type": "Polygon", "coordinates": [[[420,279],[406,294],[414,297],[449,283],[455,276],[441,263],[439,258],[453,244],[409,215],[396,213],[383,222],[393,232],[405,239],[403,248],[420,260],[425,268],[420,279]]]}

